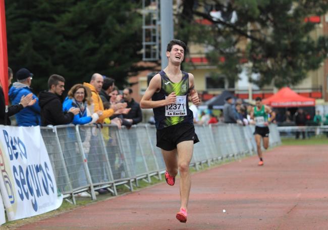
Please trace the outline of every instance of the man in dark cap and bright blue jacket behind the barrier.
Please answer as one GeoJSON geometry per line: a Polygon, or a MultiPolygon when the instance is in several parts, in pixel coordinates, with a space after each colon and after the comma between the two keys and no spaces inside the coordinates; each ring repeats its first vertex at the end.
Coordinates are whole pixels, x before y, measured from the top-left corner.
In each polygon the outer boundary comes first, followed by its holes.
{"type": "Polygon", "coordinates": [[[40,106],[38,98],[32,93],[31,82],[33,74],[26,68],[22,68],[16,73],[17,82],[9,89],[9,98],[13,105],[19,104],[23,96],[32,94],[32,99],[35,100],[33,106],[28,106],[17,113],[16,121],[18,126],[36,126],[40,125],[40,106]]]}

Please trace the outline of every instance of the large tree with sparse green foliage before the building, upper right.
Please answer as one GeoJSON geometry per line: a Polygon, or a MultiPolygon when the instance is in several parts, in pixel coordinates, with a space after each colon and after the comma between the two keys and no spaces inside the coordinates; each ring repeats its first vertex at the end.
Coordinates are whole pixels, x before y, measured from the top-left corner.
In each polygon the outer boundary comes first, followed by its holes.
{"type": "Polygon", "coordinates": [[[328,38],[313,40],[309,33],[315,24],[305,21],[324,15],[327,0],[199,0],[183,1],[181,7],[194,20],[180,14],[178,37],[204,44],[209,61],[229,81],[238,79],[246,61],[251,63],[250,72],[258,73],[259,78],[250,80],[259,87],[294,85],[317,69],[328,53],[328,38]],[[242,43],[245,49],[240,48],[242,43]]]}

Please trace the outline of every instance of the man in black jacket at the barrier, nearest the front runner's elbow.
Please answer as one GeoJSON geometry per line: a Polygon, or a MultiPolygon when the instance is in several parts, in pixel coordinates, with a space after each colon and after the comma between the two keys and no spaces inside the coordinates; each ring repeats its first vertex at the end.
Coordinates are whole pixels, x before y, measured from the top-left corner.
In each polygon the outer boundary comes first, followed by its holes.
{"type": "Polygon", "coordinates": [[[138,124],[142,121],[140,105],[139,103],[134,101],[134,99],[132,98],[132,93],[133,91],[131,88],[125,88],[123,90],[123,99],[128,104],[127,108],[131,108],[128,114],[123,115],[124,120],[128,122],[127,126],[138,124]]]}

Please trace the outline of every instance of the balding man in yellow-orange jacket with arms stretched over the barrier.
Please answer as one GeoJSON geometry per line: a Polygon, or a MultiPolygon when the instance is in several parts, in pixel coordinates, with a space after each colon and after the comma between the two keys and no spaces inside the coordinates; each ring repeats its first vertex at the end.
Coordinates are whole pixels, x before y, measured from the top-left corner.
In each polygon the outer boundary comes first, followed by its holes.
{"type": "MultiPolygon", "coordinates": [[[[103,84],[103,77],[99,73],[94,73],[91,77],[90,83],[84,82],[83,85],[90,88],[92,94],[92,101],[94,104],[94,111],[90,111],[91,113],[96,113],[98,111],[102,111],[102,114],[99,116],[97,123],[103,123],[103,120],[106,117],[111,117],[115,111],[119,113],[125,113],[124,108],[127,107],[127,103],[117,103],[112,105],[110,109],[104,109],[101,98],[99,96],[99,92],[101,90],[103,84]],[[123,110],[122,110],[123,109],[123,110]]],[[[114,82],[113,82],[114,85],[114,82]]]]}

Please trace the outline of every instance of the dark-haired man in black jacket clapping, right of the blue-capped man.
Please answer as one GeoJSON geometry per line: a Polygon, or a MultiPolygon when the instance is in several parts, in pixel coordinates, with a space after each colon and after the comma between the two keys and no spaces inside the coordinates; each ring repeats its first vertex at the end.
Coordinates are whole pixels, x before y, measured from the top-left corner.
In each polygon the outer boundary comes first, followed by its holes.
{"type": "Polygon", "coordinates": [[[73,121],[78,108],[70,108],[67,113],[63,112],[63,105],[60,99],[65,85],[65,78],[52,74],[48,79],[48,91],[42,91],[39,95],[39,105],[41,107],[41,125],[61,125],[69,124],[73,121]]]}

